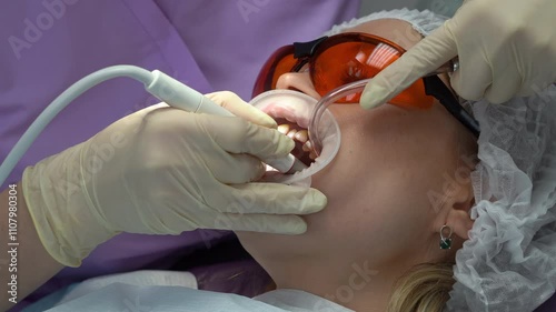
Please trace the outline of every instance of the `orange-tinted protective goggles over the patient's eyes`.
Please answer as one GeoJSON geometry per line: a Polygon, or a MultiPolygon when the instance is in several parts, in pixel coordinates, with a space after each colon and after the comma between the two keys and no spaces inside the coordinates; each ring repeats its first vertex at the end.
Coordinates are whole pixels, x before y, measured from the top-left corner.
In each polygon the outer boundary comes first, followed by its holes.
{"type": "MultiPolygon", "coordinates": [[[[252,97],[276,89],[281,74],[297,72],[306,64],[315,90],[324,97],[340,85],[375,77],[404,52],[404,48],[394,42],[358,32],[296,42],[270,56],[257,77],[252,97]]],[[[358,103],[360,93],[338,103],[358,103]]],[[[425,94],[423,80],[419,79],[389,102],[401,107],[429,108],[434,100],[434,97],[425,94]]]]}

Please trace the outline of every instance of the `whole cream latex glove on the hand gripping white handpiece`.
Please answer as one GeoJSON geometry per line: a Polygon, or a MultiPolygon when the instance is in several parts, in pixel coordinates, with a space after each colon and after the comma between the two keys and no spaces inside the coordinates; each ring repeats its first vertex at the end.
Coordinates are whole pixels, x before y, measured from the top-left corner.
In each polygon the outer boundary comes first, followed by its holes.
{"type": "Polygon", "coordinates": [[[158,104],[27,168],[23,194],[42,244],[70,266],[119,232],[298,234],[306,223],[296,214],[321,210],[324,194],[247,183],[265,173],[259,159],[286,155],[292,148],[294,141],[277,130],[241,118],[158,104]]]}

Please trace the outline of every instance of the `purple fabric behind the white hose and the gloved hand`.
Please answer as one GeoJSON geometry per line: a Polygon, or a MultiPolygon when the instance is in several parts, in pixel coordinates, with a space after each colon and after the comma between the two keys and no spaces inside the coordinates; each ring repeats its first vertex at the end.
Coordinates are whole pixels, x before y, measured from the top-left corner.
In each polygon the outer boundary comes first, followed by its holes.
{"type": "MultiPolygon", "coordinates": [[[[359,1],[43,0],[0,3],[0,159],[58,94],[113,64],[159,69],[189,87],[249,99],[258,69],[278,47],[312,40],[357,14],[359,1]]],[[[63,110],[39,135],[7,183],[23,169],[80,143],[108,124],[157,103],[142,85],[105,82],[63,110]]],[[[100,274],[170,268],[226,232],[178,236],[121,234],[77,269],[64,269],[32,298],[100,274]]],[[[18,308],[21,308],[19,305],[18,308]]]]}

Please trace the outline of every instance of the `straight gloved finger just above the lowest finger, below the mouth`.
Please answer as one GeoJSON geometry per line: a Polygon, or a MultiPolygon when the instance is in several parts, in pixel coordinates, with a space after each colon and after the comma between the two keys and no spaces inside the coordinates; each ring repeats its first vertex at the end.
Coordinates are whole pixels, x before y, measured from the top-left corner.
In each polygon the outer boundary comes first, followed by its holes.
{"type": "Polygon", "coordinates": [[[325,208],[326,197],[316,189],[279,183],[225,185],[207,204],[220,212],[251,214],[309,214],[325,208]]]}

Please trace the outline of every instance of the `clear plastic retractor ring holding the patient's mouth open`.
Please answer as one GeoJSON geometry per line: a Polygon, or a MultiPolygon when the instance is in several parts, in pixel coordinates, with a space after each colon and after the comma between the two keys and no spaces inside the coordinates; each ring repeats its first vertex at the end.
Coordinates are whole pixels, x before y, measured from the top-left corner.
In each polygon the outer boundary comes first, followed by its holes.
{"type": "MultiPolygon", "coordinates": [[[[316,111],[317,103],[316,99],[291,90],[267,91],[250,101],[250,104],[270,117],[286,119],[305,129],[309,128],[309,121],[312,118],[312,112],[316,111]]],[[[272,172],[272,174],[267,174],[262,179],[264,181],[310,187],[311,175],[322,170],[338,153],[341,138],[336,119],[326,108],[320,112],[318,127],[309,130],[309,137],[312,135],[310,131],[318,132],[318,138],[321,140],[315,162],[309,168],[294,174],[272,172]]]]}

